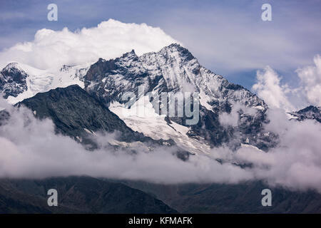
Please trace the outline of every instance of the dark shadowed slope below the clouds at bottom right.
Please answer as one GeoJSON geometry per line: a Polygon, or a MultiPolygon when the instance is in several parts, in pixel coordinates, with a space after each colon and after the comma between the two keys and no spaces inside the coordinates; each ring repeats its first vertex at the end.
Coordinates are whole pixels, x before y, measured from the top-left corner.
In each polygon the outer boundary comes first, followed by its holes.
{"type": "Polygon", "coordinates": [[[148,192],[180,213],[321,213],[321,194],[307,190],[293,192],[263,182],[226,184],[156,185],[148,182],[119,181],[148,192]],[[272,192],[272,206],[263,207],[262,190],[272,192]]]}

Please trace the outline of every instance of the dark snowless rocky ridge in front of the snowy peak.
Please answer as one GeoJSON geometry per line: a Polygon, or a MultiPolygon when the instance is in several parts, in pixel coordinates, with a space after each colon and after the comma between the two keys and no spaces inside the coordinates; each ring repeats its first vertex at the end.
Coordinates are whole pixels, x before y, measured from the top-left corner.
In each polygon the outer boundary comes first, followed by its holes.
{"type": "Polygon", "coordinates": [[[18,103],[20,105],[30,108],[37,118],[51,118],[58,133],[84,143],[91,143],[90,136],[100,131],[118,131],[121,133],[118,139],[126,142],[153,141],[128,128],[123,120],[77,85],[38,93],[18,103]]]}

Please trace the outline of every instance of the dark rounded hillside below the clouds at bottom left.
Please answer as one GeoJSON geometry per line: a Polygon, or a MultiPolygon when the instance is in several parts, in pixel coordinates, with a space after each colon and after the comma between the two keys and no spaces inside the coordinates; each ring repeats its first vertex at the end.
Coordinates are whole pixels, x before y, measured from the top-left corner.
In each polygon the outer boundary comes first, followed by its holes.
{"type": "Polygon", "coordinates": [[[93,177],[0,180],[0,213],[177,213],[161,200],[121,183],[93,177]],[[47,191],[56,189],[58,207],[47,191]]]}

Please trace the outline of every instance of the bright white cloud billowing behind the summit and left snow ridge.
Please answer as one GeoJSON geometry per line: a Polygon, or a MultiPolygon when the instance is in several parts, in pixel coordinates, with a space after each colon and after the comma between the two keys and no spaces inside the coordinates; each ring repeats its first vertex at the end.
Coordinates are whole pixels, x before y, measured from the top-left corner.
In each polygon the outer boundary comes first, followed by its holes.
{"type": "Polygon", "coordinates": [[[146,24],[125,24],[109,19],[93,28],[72,32],[43,28],[34,41],[17,43],[0,53],[0,66],[17,61],[35,68],[58,68],[63,64],[91,63],[98,58],[116,58],[134,49],[138,55],[178,43],[161,28],[146,24]]]}

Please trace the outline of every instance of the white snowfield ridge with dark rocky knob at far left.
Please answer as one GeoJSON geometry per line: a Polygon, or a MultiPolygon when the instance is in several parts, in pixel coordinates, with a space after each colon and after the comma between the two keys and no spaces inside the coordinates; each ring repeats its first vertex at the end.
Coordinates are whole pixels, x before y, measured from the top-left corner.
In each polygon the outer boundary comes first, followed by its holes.
{"type": "Polygon", "coordinates": [[[23,63],[9,63],[0,73],[0,92],[9,103],[15,104],[52,88],[73,84],[83,88],[82,78],[89,66],[63,65],[59,69],[41,70],[23,63]]]}

